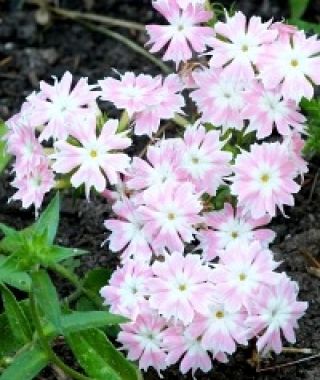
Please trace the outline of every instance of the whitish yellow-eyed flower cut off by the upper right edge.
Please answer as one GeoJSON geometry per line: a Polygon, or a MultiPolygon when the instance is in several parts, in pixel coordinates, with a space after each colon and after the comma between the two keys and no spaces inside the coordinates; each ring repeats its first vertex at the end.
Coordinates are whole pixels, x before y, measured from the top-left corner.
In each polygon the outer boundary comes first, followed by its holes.
{"type": "Polygon", "coordinates": [[[285,99],[297,103],[302,97],[311,99],[313,84],[320,84],[320,41],[296,32],[268,46],[258,62],[260,77],[267,89],[281,84],[285,99]]]}

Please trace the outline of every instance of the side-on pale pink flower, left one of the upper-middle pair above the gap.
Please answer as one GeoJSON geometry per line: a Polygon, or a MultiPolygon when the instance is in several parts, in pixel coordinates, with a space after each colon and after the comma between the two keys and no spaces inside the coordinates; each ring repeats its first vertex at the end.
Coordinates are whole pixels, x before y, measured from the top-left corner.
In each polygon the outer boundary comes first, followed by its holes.
{"type": "Polygon", "coordinates": [[[162,79],[160,75],[153,78],[151,75],[136,76],[133,72],[126,72],[120,79],[105,78],[98,83],[102,89],[101,99],[126,110],[129,117],[132,117],[156,102],[162,79]]]}

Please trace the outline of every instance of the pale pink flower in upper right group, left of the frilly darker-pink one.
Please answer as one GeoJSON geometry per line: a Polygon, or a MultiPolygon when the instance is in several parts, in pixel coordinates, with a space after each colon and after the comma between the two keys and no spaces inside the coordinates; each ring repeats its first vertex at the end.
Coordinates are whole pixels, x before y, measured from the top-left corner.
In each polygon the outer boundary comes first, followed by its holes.
{"type": "Polygon", "coordinates": [[[198,89],[191,93],[191,98],[202,113],[201,121],[222,127],[223,132],[229,128],[243,129],[240,111],[244,106],[244,83],[214,68],[194,72],[193,78],[198,89]]]}

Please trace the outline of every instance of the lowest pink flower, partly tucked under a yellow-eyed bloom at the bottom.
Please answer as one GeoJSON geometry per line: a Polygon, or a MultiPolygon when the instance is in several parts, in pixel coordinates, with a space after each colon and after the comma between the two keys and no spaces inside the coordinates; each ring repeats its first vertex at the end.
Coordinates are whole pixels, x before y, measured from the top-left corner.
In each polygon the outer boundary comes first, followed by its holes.
{"type": "Polygon", "coordinates": [[[211,357],[203,348],[200,336],[192,336],[183,325],[167,328],[163,334],[163,345],[168,351],[167,365],[181,359],[179,368],[182,374],[191,370],[194,376],[198,369],[209,372],[212,368],[211,357]]]}

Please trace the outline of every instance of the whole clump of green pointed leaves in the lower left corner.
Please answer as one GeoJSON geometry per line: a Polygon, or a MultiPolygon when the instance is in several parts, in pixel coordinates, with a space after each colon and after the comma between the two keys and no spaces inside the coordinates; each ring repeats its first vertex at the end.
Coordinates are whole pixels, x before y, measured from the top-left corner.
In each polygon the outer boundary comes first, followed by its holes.
{"type": "Polygon", "coordinates": [[[140,379],[138,369],[106,335],[107,327],[127,319],[106,311],[94,297],[108,271],[97,268],[81,281],[66,267],[59,267],[60,262],[85,253],[54,244],[59,203],[57,194],[39,219],[21,231],[0,225],[4,234],[0,241],[0,379],[31,380],[50,364],[74,379],[140,379]],[[60,299],[49,270],[72,279],[74,293],[60,299]],[[90,307],[82,304],[81,311],[72,309],[71,303],[78,298],[87,299],[90,307]],[[58,337],[92,377],[76,372],[56,355],[53,348],[58,337]]]}

